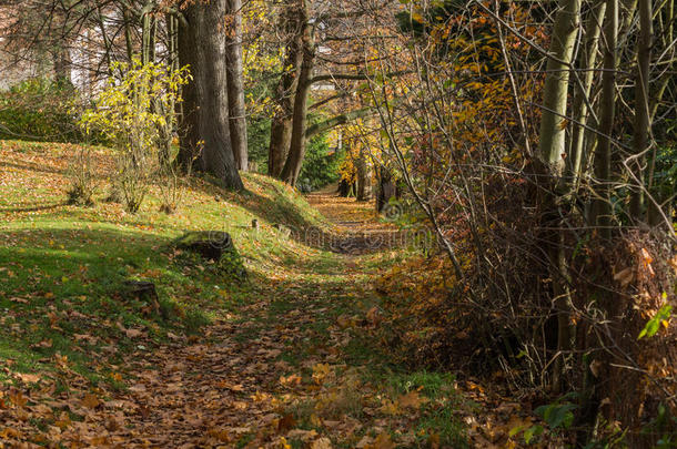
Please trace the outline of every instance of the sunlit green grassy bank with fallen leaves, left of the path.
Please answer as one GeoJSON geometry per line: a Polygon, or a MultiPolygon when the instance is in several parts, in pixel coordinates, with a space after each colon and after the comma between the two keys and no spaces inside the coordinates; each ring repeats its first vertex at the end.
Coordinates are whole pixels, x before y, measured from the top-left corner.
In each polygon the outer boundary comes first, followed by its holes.
{"type": "MultiPolygon", "coordinates": [[[[94,151],[108,155],[105,149],[94,151]]],[[[224,194],[195,180],[174,215],[159,212],[156,187],[138,214],[125,214],[120,205],[102,202],[105,183],[94,207],[68,206],[67,166],[59,163],[72,152],[72,145],[0,142],[0,170],[8,175],[0,183],[0,365],[12,371],[54,373],[60,357],[94,384],[110,381],[108,367],[140,345],[121,327],[144,329],[141,346],[149,346],[168,333],[198,333],[251,300],[251,283],[173,252],[172,239],[185,231],[231,233],[256,279],[267,276],[257,261],[271,267],[297,261],[299,245],[281,238],[273,224],[326,226],[289,186],[249,174],[244,194],[224,194]],[[251,228],[254,217],[259,231],[251,228]],[[155,283],[163,313],[130,298],[123,287],[128,279],[155,283]]],[[[2,370],[0,380],[9,380],[2,370]]]]}

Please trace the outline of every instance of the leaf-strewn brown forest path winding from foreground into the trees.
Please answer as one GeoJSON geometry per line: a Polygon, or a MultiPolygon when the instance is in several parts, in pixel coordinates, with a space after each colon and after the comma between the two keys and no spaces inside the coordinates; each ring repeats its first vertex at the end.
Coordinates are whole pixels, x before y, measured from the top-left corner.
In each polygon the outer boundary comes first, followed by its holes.
{"type": "MultiPolygon", "coordinates": [[[[330,190],[307,198],[360,254],[383,248],[368,236],[394,232],[371,203],[330,190]]],[[[257,297],[204,339],[130,358],[137,382],[107,402],[110,414],[91,417],[100,426],[89,432],[121,447],[394,447],[385,429],[406,432],[410,418],[393,412],[396,396],[384,402],[382,386],[365,380],[383,359],[367,343],[380,319],[370,286],[378,256],[340,253],[254,286],[257,297]]],[[[406,400],[415,408],[421,399],[406,400]]]]}

